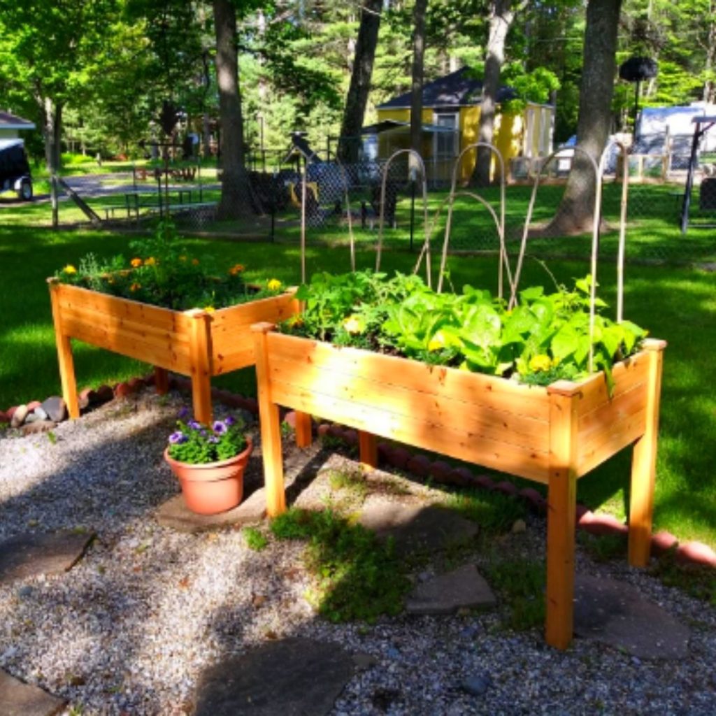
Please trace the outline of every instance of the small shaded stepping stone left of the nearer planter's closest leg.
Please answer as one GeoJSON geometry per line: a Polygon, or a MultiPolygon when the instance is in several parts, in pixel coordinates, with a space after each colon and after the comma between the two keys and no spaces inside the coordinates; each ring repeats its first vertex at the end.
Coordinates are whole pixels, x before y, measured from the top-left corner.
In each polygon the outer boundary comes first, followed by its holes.
{"type": "Polygon", "coordinates": [[[408,614],[453,614],[458,609],[495,605],[495,595],[474,564],[418,584],[407,598],[408,614]]]}

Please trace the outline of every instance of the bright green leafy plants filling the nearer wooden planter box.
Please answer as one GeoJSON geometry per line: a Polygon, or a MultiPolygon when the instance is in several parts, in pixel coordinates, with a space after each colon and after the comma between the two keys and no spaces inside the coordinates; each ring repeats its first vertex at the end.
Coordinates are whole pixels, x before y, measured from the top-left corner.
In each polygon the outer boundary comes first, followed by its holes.
{"type": "MultiPolygon", "coordinates": [[[[590,341],[590,292],[589,276],[553,294],[534,286],[508,310],[473,286],[464,286],[462,294],[437,294],[417,276],[316,274],[297,294],[304,313],[282,329],[539,385],[586,376],[591,348],[594,369],[604,370],[611,383],[611,366],[636,352],[647,333],[597,314],[590,341]]],[[[597,299],[598,311],[605,306],[597,299]]]]}

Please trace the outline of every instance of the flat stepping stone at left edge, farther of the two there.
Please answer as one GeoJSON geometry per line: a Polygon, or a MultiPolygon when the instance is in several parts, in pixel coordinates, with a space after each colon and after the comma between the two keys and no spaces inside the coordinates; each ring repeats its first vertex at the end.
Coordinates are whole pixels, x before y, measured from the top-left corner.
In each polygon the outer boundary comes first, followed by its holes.
{"type": "Polygon", "coordinates": [[[94,533],[22,534],[0,542],[0,584],[66,572],[82,558],[94,533]]]}

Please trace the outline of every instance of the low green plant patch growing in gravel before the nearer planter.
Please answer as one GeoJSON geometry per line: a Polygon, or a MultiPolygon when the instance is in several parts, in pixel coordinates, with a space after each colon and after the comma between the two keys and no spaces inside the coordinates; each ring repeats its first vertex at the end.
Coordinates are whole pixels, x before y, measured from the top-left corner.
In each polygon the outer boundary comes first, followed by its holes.
{"type": "Polygon", "coordinates": [[[393,553],[371,531],[332,510],[292,508],[271,523],[279,539],[308,541],[306,566],[316,579],[311,601],[330,621],[374,621],[400,614],[410,582],[393,553]]]}

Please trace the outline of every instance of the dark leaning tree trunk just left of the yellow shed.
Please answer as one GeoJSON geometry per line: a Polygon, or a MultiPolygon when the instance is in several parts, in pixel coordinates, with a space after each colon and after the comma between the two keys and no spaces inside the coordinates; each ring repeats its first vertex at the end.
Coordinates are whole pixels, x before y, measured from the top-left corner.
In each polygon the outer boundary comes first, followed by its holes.
{"type": "Polygon", "coordinates": [[[343,112],[341,138],[338,142],[338,158],[344,164],[354,164],[358,161],[360,130],[368,103],[382,8],[382,0],[365,0],[361,10],[351,84],[343,112]]]}

